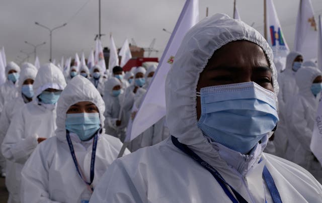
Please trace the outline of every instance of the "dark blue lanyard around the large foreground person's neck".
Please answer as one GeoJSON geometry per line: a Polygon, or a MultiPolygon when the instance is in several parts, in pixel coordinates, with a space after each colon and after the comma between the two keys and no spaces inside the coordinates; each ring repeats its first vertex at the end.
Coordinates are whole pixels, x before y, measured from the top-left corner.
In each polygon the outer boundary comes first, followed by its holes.
{"type": "MultiPolygon", "coordinates": [[[[246,203],[247,202],[247,200],[243,196],[241,196],[232,186],[230,186],[226,182],[226,180],[220,175],[220,173],[214,167],[212,167],[210,164],[208,164],[207,162],[202,160],[187,145],[180,143],[178,141],[178,138],[171,136],[171,140],[172,140],[172,143],[178,149],[180,149],[185,154],[190,156],[192,159],[197,161],[202,167],[204,167],[206,170],[208,170],[213,175],[213,177],[217,180],[217,182],[219,183],[219,185],[221,186],[223,191],[226,193],[226,195],[230,198],[230,200],[233,203],[238,203],[238,202],[239,203],[244,203],[244,202],[246,203]],[[231,189],[231,191],[233,192],[234,195],[231,194],[231,192],[229,191],[229,189],[227,188],[226,185],[231,189]]],[[[264,176],[265,182],[268,186],[268,189],[270,191],[270,194],[273,198],[274,203],[281,203],[282,200],[281,200],[280,194],[276,188],[276,185],[274,183],[274,179],[273,179],[272,175],[270,174],[270,172],[268,171],[268,169],[266,168],[266,166],[264,166],[263,176],[264,176]]]]}

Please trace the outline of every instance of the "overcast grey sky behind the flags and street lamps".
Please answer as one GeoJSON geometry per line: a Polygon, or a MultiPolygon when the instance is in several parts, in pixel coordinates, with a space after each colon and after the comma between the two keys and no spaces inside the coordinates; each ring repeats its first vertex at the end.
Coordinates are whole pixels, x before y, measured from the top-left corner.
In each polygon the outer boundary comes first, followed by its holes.
{"type": "MultiPolygon", "coordinates": [[[[237,1],[241,20],[263,33],[263,2],[260,0],[237,1]]],[[[315,17],[322,13],[322,0],[311,0],[315,17]]],[[[101,0],[103,46],[109,46],[109,33],[112,33],[117,47],[126,38],[134,38],[136,44],[148,47],[156,38],[154,48],[160,57],[169,40],[170,34],[180,15],[185,0],[101,0]]],[[[299,0],[274,0],[284,32],[285,41],[293,48],[295,22],[299,0]]],[[[199,0],[200,19],[206,15],[225,13],[232,16],[233,0],[199,0]]],[[[49,32],[35,21],[49,28],[63,23],[67,26],[53,32],[53,59],[60,61],[62,56],[79,55],[84,51],[86,57],[94,48],[94,38],[98,34],[98,0],[0,0],[0,46],[5,46],[7,61],[18,61],[26,57],[20,50],[33,52],[32,44],[46,42],[37,49],[40,62],[49,60],[49,32]],[[86,4],[87,3],[87,4],[86,4]],[[86,4],[86,5],[85,5],[86,4]],[[79,9],[82,8],[79,11],[79,9]],[[76,12],[79,13],[76,14],[76,12]]],[[[34,62],[33,55],[30,62],[34,62]]]]}

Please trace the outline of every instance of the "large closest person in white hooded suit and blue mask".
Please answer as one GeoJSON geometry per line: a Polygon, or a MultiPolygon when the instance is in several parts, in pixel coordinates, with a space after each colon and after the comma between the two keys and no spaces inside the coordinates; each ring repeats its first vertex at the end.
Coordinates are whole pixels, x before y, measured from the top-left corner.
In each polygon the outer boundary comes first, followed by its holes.
{"type": "Polygon", "coordinates": [[[259,32],[216,14],[187,32],[175,59],[172,137],[115,160],[90,202],[322,202],[311,174],[262,152],[278,120],[278,83],[259,32]]]}

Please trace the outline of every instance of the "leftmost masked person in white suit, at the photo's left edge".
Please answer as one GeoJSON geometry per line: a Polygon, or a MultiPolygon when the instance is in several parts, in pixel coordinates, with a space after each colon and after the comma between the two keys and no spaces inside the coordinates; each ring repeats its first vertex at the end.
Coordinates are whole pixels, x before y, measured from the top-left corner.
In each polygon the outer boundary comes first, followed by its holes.
{"type": "Polygon", "coordinates": [[[0,113],[3,111],[6,103],[18,96],[18,79],[20,75],[20,67],[13,61],[6,66],[7,80],[0,86],[0,113]]]}

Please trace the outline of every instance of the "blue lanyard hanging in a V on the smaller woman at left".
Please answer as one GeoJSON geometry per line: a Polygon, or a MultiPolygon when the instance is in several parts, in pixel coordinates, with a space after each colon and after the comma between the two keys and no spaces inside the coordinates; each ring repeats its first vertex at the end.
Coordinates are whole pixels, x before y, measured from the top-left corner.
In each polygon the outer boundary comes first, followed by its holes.
{"type": "Polygon", "coordinates": [[[90,169],[90,173],[91,173],[91,181],[87,182],[82,173],[81,173],[81,169],[78,166],[78,162],[77,162],[77,158],[75,155],[75,151],[74,151],[74,147],[71,143],[71,139],[69,136],[69,132],[66,130],[66,139],[67,139],[67,143],[69,146],[69,150],[70,150],[70,154],[72,157],[72,160],[74,161],[75,167],[76,167],[76,171],[78,173],[78,175],[82,178],[82,180],[88,185],[90,186],[91,190],[93,191],[93,187],[91,186],[94,180],[94,167],[95,167],[95,156],[96,156],[96,147],[97,147],[97,140],[98,140],[98,132],[100,131],[100,129],[95,133],[94,135],[94,139],[93,139],[93,148],[92,148],[92,157],[91,157],[91,169],[90,169]]]}

